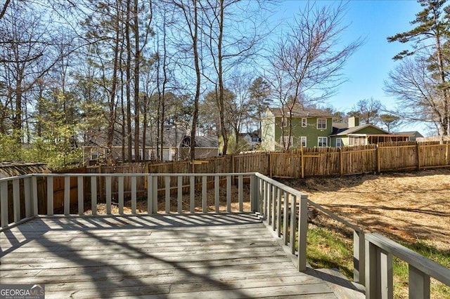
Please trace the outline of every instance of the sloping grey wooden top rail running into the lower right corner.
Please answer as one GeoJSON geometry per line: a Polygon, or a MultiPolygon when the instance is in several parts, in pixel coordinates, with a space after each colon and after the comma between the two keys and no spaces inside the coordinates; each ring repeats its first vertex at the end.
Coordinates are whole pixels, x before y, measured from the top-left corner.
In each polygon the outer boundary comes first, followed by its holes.
{"type": "Polygon", "coordinates": [[[404,260],[418,270],[430,275],[430,277],[434,277],[447,286],[450,286],[450,270],[446,267],[425,258],[423,255],[420,255],[405,246],[401,246],[391,239],[383,237],[381,234],[366,234],[366,240],[384,251],[392,253],[392,255],[397,256],[397,258],[404,260]]]}

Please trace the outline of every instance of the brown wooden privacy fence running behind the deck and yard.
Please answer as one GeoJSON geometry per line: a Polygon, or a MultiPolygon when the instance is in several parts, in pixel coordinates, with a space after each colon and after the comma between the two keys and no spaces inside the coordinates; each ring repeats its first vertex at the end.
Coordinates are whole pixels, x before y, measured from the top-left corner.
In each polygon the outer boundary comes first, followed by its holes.
{"type": "MultiPolygon", "coordinates": [[[[250,173],[271,178],[305,178],[314,175],[352,175],[385,171],[450,167],[449,142],[385,142],[357,147],[304,148],[290,152],[257,152],[227,155],[198,161],[174,161],[159,164],[141,163],[120,166],[95,166],[86,173],[250,173]]],[[[103,178],[101,178],[103,180],[103,178]]],[[[99,180],[99,194],[104,196],[104,182],[99,180]]],[[[138,194],[145,195],[146,177],[137,178],[138,194]]],[[[208,186],[214,177],[208,177],[208,186]]],[[[233,180],[233,183],[236,182],[233,180]]],[[[187,178],[183,185],[188,185],[187,178]]],[[[88,182],[89,184],[89,182],[88,182]]],[[[117,178],[113,179],[117,190],[117,178]]],[[[165,182],[158,179],[158,189],[165,182]]],[[[89,186],[87,186],[89,187],[89,186]]],[[[131,181],[125,180],[124,192],[131,192],[131,181]]]]}

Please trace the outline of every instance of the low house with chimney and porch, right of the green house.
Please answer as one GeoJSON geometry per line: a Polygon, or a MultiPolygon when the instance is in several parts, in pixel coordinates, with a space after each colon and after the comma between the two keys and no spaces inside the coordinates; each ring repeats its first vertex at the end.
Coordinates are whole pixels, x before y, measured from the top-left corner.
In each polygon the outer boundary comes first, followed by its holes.
{"type": "Polygon", "coordinates": [[[371,145],[379,142],[408,141],[410,135],[391,134],[372,124],[359,125],[358,117],[349,117],[348,125],[333,124],[330,134],[331,147],[345,147],[354,145],[371,145]]]}

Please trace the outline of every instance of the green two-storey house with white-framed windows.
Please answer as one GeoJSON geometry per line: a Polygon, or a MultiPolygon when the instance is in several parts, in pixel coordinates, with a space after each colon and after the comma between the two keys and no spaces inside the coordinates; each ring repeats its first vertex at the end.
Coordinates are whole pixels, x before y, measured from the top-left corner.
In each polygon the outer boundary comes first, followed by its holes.
{"type": "Polygon", "coordinates": [[[267,108],[262,119],[262,149],[328,147],[328,135],[333,131],[333,117],[321,109],[295,107],[267,108]],[[289,137],[290,121],[292,132],[289,137]]]}

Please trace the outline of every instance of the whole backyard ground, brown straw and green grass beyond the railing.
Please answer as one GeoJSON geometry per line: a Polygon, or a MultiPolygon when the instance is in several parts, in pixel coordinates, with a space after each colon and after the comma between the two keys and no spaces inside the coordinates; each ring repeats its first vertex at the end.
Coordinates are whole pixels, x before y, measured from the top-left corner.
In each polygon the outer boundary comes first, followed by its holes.
{"type": "MultiPolygon", "coordinates": [[[[450,267],[450,170],[283,180],[366,232],[378,232],[450,267]]],[[[352,277],[352,234],[319,216],[309,228],[313,267],[338,267],[352,277]]],[[[394,297],[408,298],[408,267],[394,258],[394,297]]],[[[432,298],[450,287],[431,280],[432,298]]]]}

